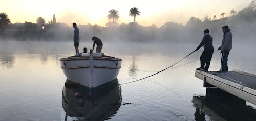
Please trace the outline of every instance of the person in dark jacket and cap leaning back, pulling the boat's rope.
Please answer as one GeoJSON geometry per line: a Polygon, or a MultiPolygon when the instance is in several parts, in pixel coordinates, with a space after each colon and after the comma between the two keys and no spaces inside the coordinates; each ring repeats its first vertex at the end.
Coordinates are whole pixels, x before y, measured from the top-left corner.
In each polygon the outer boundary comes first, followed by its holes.
{"type": "Polygon", "coordinates": [[[212,54],[214,53],[214,47],[212,46],[212,37],[210,36],[208,29],[204,30],[203,40],[198,45],[196,51],[198,51],[202,46],[204,46],[204,51],[200,56],[201,66],[197,68],[197,70],[204,70],[205,72],[208,72],[208,69],[210,67],[210,60],[211,60],[212,54]]]}

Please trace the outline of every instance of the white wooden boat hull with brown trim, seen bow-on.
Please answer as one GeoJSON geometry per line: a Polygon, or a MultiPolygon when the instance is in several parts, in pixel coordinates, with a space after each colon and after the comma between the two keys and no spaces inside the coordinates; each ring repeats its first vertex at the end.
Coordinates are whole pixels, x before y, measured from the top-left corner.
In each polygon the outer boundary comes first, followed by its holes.
{"type": "Polygon", "coordinates": [[[116,79],[122,64],[122,60],[117,58],[77,57],[60,61],[69,80],[89,88],[96,88],[116,79]]]}

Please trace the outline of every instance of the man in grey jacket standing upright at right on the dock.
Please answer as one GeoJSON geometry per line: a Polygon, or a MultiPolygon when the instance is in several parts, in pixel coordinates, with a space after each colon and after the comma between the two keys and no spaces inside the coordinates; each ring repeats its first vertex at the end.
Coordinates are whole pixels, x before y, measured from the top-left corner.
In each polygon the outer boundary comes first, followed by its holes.
{"type": "Polygon", "coordinates": [[[229,51],[232,49],[232,33],[230,32],[230,29],[227,25],[222,27],[222,31],[224,33],[221,46],[218,48],[218,50],[221,50],[222,57],[221,57],[221,69],[217,72],[225,72],[228,71],[227,66],[227,57],[229,54],[229,51]]]}

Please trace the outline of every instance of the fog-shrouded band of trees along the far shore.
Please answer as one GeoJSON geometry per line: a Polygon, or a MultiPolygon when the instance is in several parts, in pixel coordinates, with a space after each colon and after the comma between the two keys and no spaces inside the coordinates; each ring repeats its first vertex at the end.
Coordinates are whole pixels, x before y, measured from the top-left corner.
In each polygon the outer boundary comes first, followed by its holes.
{"type": "MultiPolygon", "coordinates": [[[[255,42],[256,10],[255,2],[248,7],[219,19],[191,17],[186,25],[175,22],[166,22],[161,27],[155,25],[141,26],[139,23],[121,23],[120,25],[106,26],[77,25],[80,31],[80,42],[91,41],[97,36],[106,42],[135,42],[135,43],[200,43],[205,29],[210,30],[214,44],[220,44],[223,36],[222,26],[228,25],[233,34],[234,42],[255,42]]],[[[228,15],[228,14],[227,14],[228,15]]],[[[175,17],[175,16],[174,16],[175,17]]],[[[75,21],[74,21],[75,22],[75,21]]],[[[14,30],[6,28],[0,33],[2,41],[72,41],[74,28],[65,23],[14,23],[14,30]],[[42,26],[44,26],[42,28],[42,26]]]]}

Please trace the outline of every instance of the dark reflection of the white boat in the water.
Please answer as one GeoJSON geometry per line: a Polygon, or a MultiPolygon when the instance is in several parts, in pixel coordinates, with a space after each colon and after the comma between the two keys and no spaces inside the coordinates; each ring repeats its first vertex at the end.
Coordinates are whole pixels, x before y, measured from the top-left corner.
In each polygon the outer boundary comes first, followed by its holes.
{"type": "Polygon", "coordinates": [[[121,88],[117,79],[93,96],[82,88],[82,85],[76,84],[67,79],[62,90],[65,120],[105,120],[117,113],[122,102],[121,88]]]}

